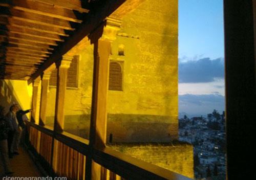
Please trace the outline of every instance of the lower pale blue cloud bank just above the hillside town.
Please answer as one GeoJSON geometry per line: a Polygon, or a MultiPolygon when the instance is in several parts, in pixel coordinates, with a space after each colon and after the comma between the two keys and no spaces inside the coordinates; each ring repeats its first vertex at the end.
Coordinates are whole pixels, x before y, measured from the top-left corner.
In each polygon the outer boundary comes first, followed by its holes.
{"type": "Polygon", "coordinates": [[[220,113],[225,109],[225,97],[220,94],[179,95],[179,112],[206,115],[217,109],[220,113]]]}

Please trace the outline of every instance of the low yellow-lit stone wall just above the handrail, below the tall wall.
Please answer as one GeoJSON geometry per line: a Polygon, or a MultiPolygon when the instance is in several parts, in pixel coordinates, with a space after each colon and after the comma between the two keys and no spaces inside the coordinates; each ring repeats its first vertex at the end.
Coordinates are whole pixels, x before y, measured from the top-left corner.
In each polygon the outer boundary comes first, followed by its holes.
{"type": "Polygon", "coordinates": [[[134,158],[194,178],[193,146],[189,144],[115,144],[111,148],[134,158]]]}

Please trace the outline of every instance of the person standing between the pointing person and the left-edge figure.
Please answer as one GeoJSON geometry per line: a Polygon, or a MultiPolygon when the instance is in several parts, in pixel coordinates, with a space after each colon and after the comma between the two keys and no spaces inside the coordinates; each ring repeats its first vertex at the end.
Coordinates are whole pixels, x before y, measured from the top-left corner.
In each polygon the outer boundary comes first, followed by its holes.
{"type": "Polygon", "coordinates": [[[14,154],[18,155],[18,144],[19,137],[22,128],[18,126],[18,120],[16,118],[16,112],[18,110],[18,105],[13,104],[10,107],[9,112],[6,115],[7,122],[11,127],[11,131],[8,134],[8,149],[9,149],[9,158],[12,158],[14,154]]]}

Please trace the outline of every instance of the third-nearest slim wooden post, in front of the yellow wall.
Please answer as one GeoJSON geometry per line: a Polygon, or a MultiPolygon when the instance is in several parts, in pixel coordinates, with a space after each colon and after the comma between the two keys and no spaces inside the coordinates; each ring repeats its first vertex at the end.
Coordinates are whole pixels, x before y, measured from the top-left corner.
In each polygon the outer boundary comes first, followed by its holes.
{"type": "Polygon", "coordinates": [[[49,88],[49,80],[51,73],[56,69],[55,64],[52,64],[42,75],[41,78],[41,105],[40,105],[40,118],[39,125],[45,126],[46,124],[46,107],[47,107],[47,94],[49,88]]]}

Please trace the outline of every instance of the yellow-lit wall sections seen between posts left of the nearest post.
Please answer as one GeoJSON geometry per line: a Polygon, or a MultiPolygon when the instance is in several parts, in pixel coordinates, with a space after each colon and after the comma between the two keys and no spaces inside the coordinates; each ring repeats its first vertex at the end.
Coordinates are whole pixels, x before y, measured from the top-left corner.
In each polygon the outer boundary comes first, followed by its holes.
{"type": "MultiPolygon", "coordinates": [[[[82,44],[76,55],[78,62],[78,88],[67,88],[65,96],[65,124],[66,131],[88,138],[92,103],[93,77],[93,46],[82,44]]],[[[56,87],[49,87],[48,97],[54,97],[56,87]]],[[[55,99],[48,98],[47,125],[53,126],[55,99]]]]}

